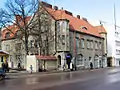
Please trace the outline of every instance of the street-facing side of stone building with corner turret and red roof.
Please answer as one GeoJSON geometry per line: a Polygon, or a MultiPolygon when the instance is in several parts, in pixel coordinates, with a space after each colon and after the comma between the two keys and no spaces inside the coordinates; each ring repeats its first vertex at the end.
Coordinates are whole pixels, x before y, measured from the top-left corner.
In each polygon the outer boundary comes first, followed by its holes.
{"type": "Polygon", "coordinates": [[[89,68],[90,62],[94,68],[107,66],[107,33],[103,26],[95,27],[89,24],[86,18],[76,17],[67,10],[44,4],[44,9],[55,23],[56,41],[52,45],[58,57],[61,69],[70,64],[67,56],[75,57],[73,61],[78,68],[89,68]]]}

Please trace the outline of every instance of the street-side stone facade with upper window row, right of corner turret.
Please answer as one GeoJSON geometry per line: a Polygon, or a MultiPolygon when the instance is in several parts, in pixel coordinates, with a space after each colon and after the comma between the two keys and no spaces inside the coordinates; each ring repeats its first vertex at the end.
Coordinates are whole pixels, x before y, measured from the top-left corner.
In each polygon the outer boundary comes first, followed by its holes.
{"type": "Polygon", "coordinates": [[[106,67],[106,57],[104,52],[104,38],[85,35],[78,32],[71,34],[71,53],[76,57],[78,68],[89,68],[90,62],[94,68],[106,67]],[[75,45],[73,45],[73,43],[75,45]]]}

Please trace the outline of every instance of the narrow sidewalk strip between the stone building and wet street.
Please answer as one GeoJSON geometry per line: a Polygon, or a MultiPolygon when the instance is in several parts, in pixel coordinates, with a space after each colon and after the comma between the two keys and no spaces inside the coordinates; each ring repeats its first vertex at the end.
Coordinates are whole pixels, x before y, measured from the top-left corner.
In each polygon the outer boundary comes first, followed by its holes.
{"type": "Polygon", "coordinates": [[[46,75],[58,75],[58,74],[66,74],[66,73],[85,73],[85,72],[90,72],[90,71],[98,71],[98,70],[104,70],[104,69],[112,69],[116,67],[106,67],[106,68],[99,68],[99,69],[84,69],[84,70],[77,70],[77,71],[51,71],[51,72],[34,72],[30,74],[27,71],[16,71],[16,70],[10,70],[9,73],[6,73],[7,76],[10,77],[32,77],[32,76],[46,76],[46,75]]]}

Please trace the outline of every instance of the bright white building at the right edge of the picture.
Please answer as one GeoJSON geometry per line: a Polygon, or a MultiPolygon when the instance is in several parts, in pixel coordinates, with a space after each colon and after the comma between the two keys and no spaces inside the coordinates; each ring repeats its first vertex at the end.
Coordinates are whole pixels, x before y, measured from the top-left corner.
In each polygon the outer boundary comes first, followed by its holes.
{"type": "Polygon", "coordinates": [[[106,23],[107,31],[107,64],[108,66],[120,66],[120,27],[106,23]]]}

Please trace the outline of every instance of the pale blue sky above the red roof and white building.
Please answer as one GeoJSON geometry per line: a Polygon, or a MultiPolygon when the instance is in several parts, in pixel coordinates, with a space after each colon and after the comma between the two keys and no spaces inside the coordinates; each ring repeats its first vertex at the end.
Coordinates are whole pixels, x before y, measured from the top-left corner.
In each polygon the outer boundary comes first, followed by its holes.
{"type": "MultiPolygon", "coordinates": [[[[6,0],[0,0],[0,8],[4,7],[6,0]]],[[[57,5],[59,9],[63,7],[73,13],[74,16],[85,17],[93,25],[99,21],[114,23],[114,3],[116,11],[116,23],[120,26],[120,0],[43,0],[52,5],[57,5]]],[[[4,7],[5,8],[5,7],[4,7]]]]}

